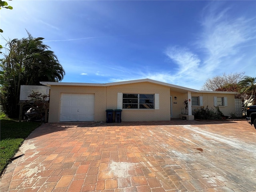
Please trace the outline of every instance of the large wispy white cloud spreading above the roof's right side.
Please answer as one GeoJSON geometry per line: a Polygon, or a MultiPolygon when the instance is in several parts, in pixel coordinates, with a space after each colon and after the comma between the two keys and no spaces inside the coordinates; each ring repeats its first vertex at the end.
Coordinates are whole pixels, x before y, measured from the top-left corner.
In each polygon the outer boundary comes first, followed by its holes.
{"type": "MultiPolygon", "coordinates": [[[[241,63],[248,57],[242,48],[256,46],[255,18],[230,15],[230,7],[222,8],[220,4],[209,4],[202,14],[201,32],[195,42],[196,47],[169,46],[164,52],[177,65],[175,78],[194,81],[201,84],[211,76],[231,73],[239,70],[241,63]],[[201,52],[195,54],[195,52],[201,52]]],[[[163,76],[164,77],[164,76],[163,76]]],[[[165,77],[168,80],[168,78],[165,77]]],[[[175,81],[175,80],[174,80],[175,81]]]]}

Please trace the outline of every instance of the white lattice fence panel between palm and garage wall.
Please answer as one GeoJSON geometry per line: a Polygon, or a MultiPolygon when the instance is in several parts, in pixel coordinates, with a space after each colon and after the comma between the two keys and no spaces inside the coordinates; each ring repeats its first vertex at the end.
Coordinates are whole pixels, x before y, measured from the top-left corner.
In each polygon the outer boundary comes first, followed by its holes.
{"type": "MultiPolygon", "coordinates": [[[[49,95],[50,87],[40,85],[21,85],[20,86],[20,101],[29,101],[31,98],[28,97],[33,92],[41,93],[42,95],[49,95]]],[[[46,98],[46,101],[49,97],[46,98]]]]}

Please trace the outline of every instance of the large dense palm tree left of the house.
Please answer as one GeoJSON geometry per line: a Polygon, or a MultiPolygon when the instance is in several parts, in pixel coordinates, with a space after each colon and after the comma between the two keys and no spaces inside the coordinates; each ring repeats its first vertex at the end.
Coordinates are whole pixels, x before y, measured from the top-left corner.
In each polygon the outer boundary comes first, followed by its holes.
{"type": "Polygon", "coordinates": [[[6,40],[6,54],[0,60],[1,105],[9,117],[18,115],[20,85],[39,85],[40,81],[59,82],[65,71],[44,38],[6,40]]]}

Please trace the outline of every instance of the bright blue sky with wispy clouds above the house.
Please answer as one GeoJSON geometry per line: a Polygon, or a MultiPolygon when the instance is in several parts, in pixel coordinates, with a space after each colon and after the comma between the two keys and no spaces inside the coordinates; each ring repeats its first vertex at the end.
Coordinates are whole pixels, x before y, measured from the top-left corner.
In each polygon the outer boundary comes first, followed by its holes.
{"type": "Polygon", "coordinates": [[[207,78],[256,77],[256,1],[8,1],[0,44],[43,37],[62,82],[150,78],[200,89],[207,78]],[[25,30],[26,29],[26,30],[25,30]]]}

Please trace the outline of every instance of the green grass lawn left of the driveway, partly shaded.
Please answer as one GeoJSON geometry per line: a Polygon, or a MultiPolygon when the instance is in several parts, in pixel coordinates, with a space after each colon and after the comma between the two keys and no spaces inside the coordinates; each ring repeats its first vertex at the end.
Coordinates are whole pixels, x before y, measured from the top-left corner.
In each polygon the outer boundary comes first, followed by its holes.
{"type": "Polygon", "coordinates": [[[18,148],[28,135],[41,123],[38,122],[18,122],[13,119],[0,118],[0,171],[8,165],[10,159],[18,151],[18,148]]]}

